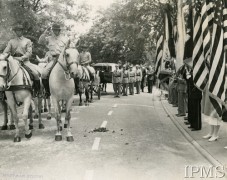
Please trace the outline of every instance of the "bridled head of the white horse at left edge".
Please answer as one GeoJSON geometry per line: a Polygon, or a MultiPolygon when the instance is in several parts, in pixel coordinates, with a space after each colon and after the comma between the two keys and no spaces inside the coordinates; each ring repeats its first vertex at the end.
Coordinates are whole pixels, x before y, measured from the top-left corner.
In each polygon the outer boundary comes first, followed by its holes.
{"type": "Polygon", "coordinates": [[[10,75],[9,55],[0,55],[0,91],[7,88],[7,81],[10,75]]]}

